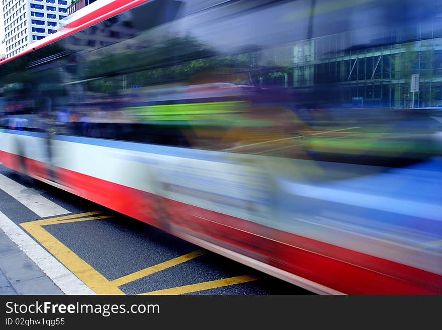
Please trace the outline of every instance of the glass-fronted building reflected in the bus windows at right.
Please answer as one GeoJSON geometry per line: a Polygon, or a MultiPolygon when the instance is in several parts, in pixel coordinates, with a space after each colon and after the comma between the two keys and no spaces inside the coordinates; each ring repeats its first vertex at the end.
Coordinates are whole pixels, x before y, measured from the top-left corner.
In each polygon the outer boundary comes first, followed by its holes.
{"type": "Polygon", "coordinates": [[[297,89],[336,86],[335,104],[361,107],[435,107],[442,104],[442,38],[404,40],[394,31],[389,42],[356,49],[340,48],[351,33],[328,35],[293,46],[291,83],[297,89]],[[418,77],[413,93],[412,76],[418,77]],[[412,101],[414,100],[414,102],[412,101]]]}

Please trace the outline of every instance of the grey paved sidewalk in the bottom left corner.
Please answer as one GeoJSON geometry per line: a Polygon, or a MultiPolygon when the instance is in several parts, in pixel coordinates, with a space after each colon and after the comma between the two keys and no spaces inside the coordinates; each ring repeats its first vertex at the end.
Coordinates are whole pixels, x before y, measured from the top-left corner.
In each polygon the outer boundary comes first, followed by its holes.
{"type": "Polygon", "coordinates": [[[64,294],[0,229],[0,295],[64,294]]]}

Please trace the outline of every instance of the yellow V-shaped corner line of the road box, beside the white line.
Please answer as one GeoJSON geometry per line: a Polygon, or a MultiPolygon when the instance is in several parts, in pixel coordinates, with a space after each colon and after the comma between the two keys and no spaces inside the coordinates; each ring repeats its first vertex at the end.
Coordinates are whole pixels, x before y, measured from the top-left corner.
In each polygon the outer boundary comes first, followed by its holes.
{"type": "MultiPolygon", "coordinates": [[[[84,213],[83,213],[84,215],[84,213]]],[[[78,214],[77,214],[78,216],[78,214]]],[[[80,215],[81,216],[81,215],[80,215]]],[[[66,219],[66,217],[62,217],[66,219]]],[[[70,217],[73,218],[73,217],[70,217]]],[[[91,217],[99,218],[99,217],[91,217]]],[[[32,222],[24,222],[20,225],[26,229],[32,236],[37,239],[46,249],[57,258],[64,266],[66,266],[75,276],[77,276],[84,284],[86,284],[96,294],[125,294],[118,287],[111,284],[104,276],[98,273],[94,268],[87,264],[84,260],[74,254],[66,245],[51,235],[43,228],[43,225],[63,223],[58,218],[37,220],[32,222]],[[54,219],[58,219],[54,220],[54,219]]],[[[66,219],[66,221],[83,221],[84,219],[66,219]]],[[[64,222],[66,223],[66,222],[64,222]]]]}

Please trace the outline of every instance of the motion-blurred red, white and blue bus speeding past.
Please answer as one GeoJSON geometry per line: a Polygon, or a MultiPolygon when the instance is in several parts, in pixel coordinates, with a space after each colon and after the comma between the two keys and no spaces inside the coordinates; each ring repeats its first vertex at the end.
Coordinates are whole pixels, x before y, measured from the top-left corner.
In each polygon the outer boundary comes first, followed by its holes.
{"type": "Polygon", "coordinates": [[[114,0],[0,62],[0,161],[314,292],[441,294],[440,13],[114,0]]]}

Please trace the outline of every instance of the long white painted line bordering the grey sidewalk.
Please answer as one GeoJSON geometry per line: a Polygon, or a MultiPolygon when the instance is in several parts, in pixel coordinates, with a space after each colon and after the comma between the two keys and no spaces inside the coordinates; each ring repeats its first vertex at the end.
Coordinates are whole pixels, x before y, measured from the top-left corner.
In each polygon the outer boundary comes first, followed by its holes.
{"type": "Polygon", "coordinates": [[[0,228],[65,294],[95,294],[2,212],[0,228]]]}

